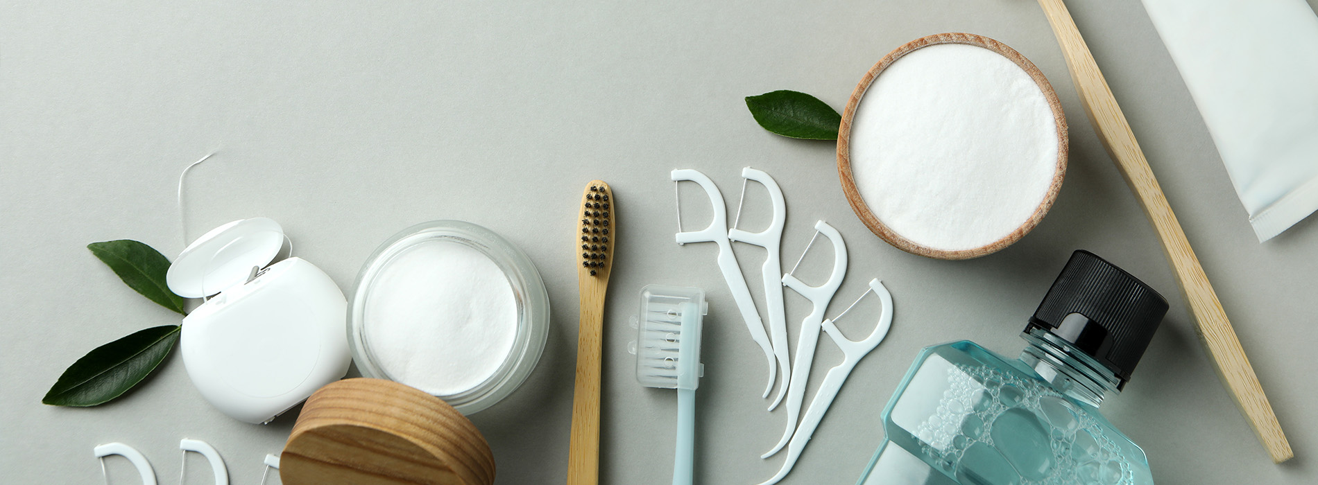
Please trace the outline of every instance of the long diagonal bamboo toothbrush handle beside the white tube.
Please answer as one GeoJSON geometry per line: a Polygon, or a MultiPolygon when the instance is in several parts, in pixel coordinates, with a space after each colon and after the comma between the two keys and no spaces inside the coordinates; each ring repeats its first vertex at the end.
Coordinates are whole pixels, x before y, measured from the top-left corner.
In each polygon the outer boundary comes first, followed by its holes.
{"type": "Polygon", "coordinates": [[[1162,250],[1172,262],[1177,282],[1181,283],[1181,294],[1194,312],[1195,329],[1209,351],[1218,377],[1240,407],[1240,413],[1248,419],[1259,442],[1268,449],[1272,461],[1289,460],[1294,453],[1281,431],[1281,424],[1277,423],[1277,416],[1272,413],[1272,405],[1268,403],[1268,397],[1263,393],[1244,349],[1240,348],[1240,340],[1236,339],[1218,295],[1213,293],[1213,285],[1203,274],[1199,260],[1194,257],[1194,250],[1185,239],[1185,231],[1176,220],[1176,214],[1172,214],[1162,188],[1153,178],[1153,170],[1140,152],[1140,145],[1135,142],[1131,125],[1122,115],[1122,108],[1116,105],[1116,99],[1112,98],[1103,72],[1098,70],[1089,46],[1079,36],[1070,12],[1062,0],[1039,0],[1039,5],[1044,8],[1053,34],[1062,47],[1066,67],[1070,69],[1072,80],[1075,83],[1085,112],[1089,113],[1090,124],[1094,125],[1107,154],[1116,162],[1122,177],[1135,191],[1144,214],[1162,241],[1162,250]]]}

